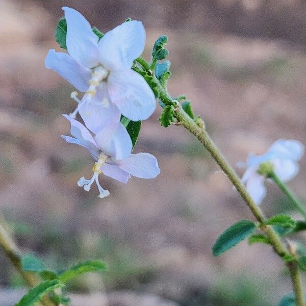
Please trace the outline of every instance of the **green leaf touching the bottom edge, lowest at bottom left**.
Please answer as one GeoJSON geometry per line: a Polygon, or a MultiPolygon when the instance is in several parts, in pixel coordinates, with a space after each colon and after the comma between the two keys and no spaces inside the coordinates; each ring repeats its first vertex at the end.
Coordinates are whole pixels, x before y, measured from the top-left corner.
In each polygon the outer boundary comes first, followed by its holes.
{"type": "Polygon", "coordinates": [[[30,289],[15,306],[33,306],[35,303],[39,302],[45,294],[63,286],[64,285],[61,284],[58,279],[44,281],[30,289]]]}

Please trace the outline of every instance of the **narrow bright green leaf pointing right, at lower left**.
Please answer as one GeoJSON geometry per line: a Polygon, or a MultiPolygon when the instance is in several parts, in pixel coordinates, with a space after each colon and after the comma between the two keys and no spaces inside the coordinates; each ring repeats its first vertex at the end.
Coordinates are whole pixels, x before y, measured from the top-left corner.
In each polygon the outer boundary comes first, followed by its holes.
{"type": "Polygon", "coordinates": [[[105,272],[107,271],[106,264],[98,260],[88,260],[81,262],[77,265],[70,267],[59,275],[59,280],[62,283],[66,283],[71,278],[79,276],[82,273],[86,272],[105,272]]]}

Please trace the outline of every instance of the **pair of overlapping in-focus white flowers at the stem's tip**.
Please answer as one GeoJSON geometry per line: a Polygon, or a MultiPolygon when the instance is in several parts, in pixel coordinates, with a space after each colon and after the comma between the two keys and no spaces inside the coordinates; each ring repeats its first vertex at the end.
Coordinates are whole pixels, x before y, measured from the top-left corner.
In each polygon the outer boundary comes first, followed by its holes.
{"type": "Polygon", "coordinates": [[[132,154],[132,140],[120,122],[121,115],[133,121],[147,119],[156,108],[154,93],[145,80],[131,69],[144,49],[145,30],[140,21],[128,21],[106,33],[102,38],[78,11],[64,7],[67,22],[67,53],[49,50],[45,66],[54,69],[79,91],[71,93],[77,108],[63,115],[71,124],[73,137],[67,142],[85,147],[96,160],[90,180],[78,182],[86,191],[93,182],[99,197],[109,195],[99,182],[104,173],[127,183],[130,176],[152,179],[160,173],[157,160],[147,153],[132,154]],[[77,121],[80,114],[85,126],[77,121]]]}

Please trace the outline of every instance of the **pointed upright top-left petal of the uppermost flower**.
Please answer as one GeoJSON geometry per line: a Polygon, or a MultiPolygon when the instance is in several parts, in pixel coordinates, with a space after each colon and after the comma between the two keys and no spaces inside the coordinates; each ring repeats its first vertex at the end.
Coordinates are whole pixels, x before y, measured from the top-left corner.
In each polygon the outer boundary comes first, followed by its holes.
{"type": "Polygon", "coordinates": [[[68,53],[87,68],[99,62],[98,40],[89,22],[78,11],[63,7],[67,21],[66,45],[68,53]]]}

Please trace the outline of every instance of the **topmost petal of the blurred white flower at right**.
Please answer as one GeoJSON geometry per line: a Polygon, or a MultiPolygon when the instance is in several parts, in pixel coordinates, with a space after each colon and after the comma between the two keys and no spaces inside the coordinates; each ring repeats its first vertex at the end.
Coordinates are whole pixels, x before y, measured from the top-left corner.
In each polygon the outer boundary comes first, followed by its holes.
{"type": "Polygon", "coordinates": [[[297,161],[304,153],[304,146],[297,140],[278,139],[270,146],[268,152],[275,157],[297,161]]]}

